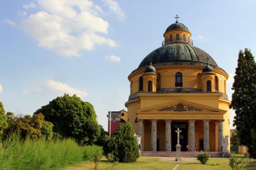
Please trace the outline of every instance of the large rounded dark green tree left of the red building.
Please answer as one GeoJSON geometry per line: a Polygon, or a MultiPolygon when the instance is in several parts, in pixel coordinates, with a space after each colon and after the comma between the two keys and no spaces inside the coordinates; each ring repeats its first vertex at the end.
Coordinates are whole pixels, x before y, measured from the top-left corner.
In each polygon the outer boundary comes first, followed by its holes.
{"type": "Polygon", "coordinates": [[[81,145],[92,145],[100,134],[93,106],[75,95],[57,97],[34,114],[38,113],[53,124],[55,133],[74,138],[81,145]]]}

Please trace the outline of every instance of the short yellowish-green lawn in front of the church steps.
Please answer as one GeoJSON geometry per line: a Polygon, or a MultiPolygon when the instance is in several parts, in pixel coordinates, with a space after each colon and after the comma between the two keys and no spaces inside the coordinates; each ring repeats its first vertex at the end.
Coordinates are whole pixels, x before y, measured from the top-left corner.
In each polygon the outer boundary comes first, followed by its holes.
{"type": "MultiPolygon", "coordinates": [[[[98,170],[172,170],[176,164],[180,164],[178,170],[231,170],[229,160],[227,158],[210,158],[206,165],[202,165],[199,161],[191,162],[175,162],[160,161],[159,157],[140,157],[135,163],[119,163],[117,166],[108,163],[103,158],[98,170]]],[[[194,159],[194,158],[192,158],[194,159]]],[[[250,160],[246,160],[243,170],[256,170],[256,164],[249,165],[250,160]]],[[[79,165],[69,167],[66,170],[90,170],[91,162],[84,161],[79,165]]]]}

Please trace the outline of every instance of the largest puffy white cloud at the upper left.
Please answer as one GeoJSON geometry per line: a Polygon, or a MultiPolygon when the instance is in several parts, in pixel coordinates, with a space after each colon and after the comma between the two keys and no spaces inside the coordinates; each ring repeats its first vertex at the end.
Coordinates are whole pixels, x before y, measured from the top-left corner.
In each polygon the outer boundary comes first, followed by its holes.
{"type": "MultiPolygon", "coordinates": [[[[98,16],[102,9],[91,0],[37,0],[41,11],[27,16],[20,28],[39,46],[64,57],[79,57],[95,45],[118,46],[107,34],[108,21],[98,16]]],[[[30,4],[30,3],[29,3],[30,4]]]]}

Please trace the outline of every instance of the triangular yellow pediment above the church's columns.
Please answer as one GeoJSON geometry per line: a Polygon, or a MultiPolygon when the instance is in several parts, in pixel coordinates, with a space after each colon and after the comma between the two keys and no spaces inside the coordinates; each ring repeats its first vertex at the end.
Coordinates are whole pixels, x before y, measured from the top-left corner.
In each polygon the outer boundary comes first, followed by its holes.
{"type": "Polygon", "coordinates": [[[161,112],[217,112],[225,113],[226,110],[219,108],[205,106],[185,100],[176,100],[172,102],[163,103],[161,105],[149,106],[135,111],[136,113],[161,113],[161,112]]]}

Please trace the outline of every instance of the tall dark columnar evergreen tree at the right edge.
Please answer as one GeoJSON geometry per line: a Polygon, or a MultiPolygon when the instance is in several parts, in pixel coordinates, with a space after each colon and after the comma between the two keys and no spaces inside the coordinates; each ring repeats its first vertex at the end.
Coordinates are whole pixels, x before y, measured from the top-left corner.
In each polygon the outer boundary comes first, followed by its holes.
{"type": "Polygon", "coordinates": [[[239,51],[235,69],[231,108],[235,110],[233,125],[242,145],[256,156],[256,63],[250,50],[239,51]]]}

